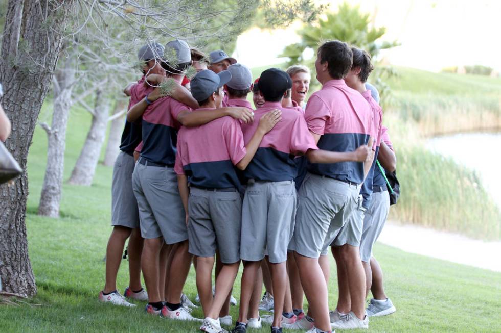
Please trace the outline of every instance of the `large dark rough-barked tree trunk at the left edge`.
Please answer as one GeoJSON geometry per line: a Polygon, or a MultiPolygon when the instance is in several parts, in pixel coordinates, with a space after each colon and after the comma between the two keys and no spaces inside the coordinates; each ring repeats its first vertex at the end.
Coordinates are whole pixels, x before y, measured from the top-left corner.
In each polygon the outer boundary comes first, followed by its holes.
{"type": "Polygon", "coordinates": [[[72,3],[10,0],[7,9],[0,82],[5,87],[2,105],[12,122],[12,133],[5,145],[25,171],[12,185],[0,186],[0,277],[4,291],[22,296],[36,294],[25,224],[28,148],[72,3]]]}

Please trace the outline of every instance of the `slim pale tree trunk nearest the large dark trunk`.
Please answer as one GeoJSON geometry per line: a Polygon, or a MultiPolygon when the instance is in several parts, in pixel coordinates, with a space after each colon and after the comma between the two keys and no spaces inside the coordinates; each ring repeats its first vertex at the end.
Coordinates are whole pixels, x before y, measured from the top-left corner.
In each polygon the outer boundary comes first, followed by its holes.
{"type": "Polygon", "coordinates": [[[44,125],[49,138],[47,168],[43,177],[42,192],[38,206],[38,215],[59,217],[62,180],[64,173],[64,150],[66,148],[66,128],[72,104],[71,95],[75,70],[68,59],[63,69],[54,75],[54,110],[51,127],[44,125]]]}

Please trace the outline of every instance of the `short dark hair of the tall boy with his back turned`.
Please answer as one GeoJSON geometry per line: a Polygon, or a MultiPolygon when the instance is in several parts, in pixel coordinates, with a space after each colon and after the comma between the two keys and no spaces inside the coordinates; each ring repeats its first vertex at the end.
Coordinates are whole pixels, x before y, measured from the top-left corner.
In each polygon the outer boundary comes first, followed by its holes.
{"type": "Polygon", "coordinates": [[[347,43],[339,40],[325,42],[318,47],[320,62],[327,61],[327,69],[332,79],[344,79],[353,64],[353,53],[347,43]]]}

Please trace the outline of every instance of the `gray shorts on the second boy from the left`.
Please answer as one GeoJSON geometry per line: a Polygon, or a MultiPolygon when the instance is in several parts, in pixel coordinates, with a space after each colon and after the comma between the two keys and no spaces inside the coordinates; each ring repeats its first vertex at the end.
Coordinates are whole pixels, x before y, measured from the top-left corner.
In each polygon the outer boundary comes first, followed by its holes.
{"type": "Polygon", "coordinates": [[[188,239],[185,210],[173,168],[137,163],[132,187],[138,199],[141,236],[164,237],[167,244],[188,239]]]}

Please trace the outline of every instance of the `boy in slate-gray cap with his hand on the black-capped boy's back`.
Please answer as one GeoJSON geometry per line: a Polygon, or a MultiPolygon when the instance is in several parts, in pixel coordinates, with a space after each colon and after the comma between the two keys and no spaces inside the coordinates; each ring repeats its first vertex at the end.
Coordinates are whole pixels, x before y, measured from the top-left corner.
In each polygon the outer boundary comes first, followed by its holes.
{"type": "MultiPolygon", "coordinates": [[[[191,81],[198,110],[221,105],[222,86],[230,71],[199,72],[191,81]]],[[[280,120],[280,111],[261,118],[258,130],[244,147],[240,123],[222,117],[191,129],[182,127],[177,137],[175,171],[179,193],[187,212],[189,251],[197,257],[196,280],[204,319],[200,330],[221,332],[218,319],[240,263],[241,199],[235,166],[246,168],[263,136],[280,120]],[[188,181],[190,188],[188,188],[188,181]],[[216,248],[222,262],[212,296],[212,268],[216,248]]]]}

